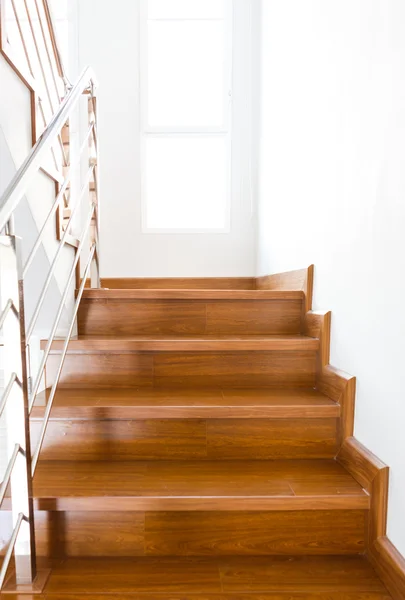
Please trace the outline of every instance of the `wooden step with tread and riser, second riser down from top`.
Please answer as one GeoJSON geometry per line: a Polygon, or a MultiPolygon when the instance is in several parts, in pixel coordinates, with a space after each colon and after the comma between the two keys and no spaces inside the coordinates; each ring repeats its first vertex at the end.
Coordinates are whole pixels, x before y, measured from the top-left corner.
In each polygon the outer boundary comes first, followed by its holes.
{"type": "MultiPolygon", "coordinates": [[[[46,369],[53,384],[63,342],[46,369]]],[[[137,336],[73,340],[62,387],[315,387],[319,340],[306,336],[137,336]]]]}

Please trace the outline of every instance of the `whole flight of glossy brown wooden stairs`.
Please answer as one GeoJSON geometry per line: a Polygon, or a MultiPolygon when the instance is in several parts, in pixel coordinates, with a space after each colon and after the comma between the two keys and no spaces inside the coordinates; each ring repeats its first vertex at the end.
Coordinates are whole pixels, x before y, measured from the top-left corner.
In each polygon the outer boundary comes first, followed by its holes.
{"type": "Polygon", "coordinates": [[[85,291],[34,479],[47,598],[390,598],[328,314],[224,281],[85,291]]]}

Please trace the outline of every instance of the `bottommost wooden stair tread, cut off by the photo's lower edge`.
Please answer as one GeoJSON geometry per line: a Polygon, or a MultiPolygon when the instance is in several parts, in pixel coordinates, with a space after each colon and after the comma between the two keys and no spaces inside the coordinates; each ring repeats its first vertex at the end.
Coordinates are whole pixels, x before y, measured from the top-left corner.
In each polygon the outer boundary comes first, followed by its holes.
{"type": "Polygon", "coordinates": [[[391,598],[364,557],[346,556],[69,558],[55,565],[45,593],[48,600],[391,598]]]}

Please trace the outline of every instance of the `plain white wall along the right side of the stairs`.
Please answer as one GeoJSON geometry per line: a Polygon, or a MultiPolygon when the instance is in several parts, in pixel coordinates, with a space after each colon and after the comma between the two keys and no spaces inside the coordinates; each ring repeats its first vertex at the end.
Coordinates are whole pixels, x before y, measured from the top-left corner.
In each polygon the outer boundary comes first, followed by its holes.
{"type": "Polygon", "coordinates": [[[258,273],[314,263],[405,554],[405,3],[263,0],[258,273]]]}

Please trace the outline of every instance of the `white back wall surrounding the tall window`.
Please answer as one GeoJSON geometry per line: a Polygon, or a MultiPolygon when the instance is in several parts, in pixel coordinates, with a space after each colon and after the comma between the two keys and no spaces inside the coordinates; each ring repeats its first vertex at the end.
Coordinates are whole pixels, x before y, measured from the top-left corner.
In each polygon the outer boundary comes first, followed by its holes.
{"type": "MultiPolygon", "coordinates": [[[[139,0],[80,0],[79,62],[100,82],[101,273],[104,277],[249,276],[255,218],[249,180],[249,54],[240,31],[233,86],[232,229],[229,234],[141,232],[139,0]],[[112,8],[113,6],[113,8],[112,8]]],[[[235,0],[240,28],[247,0],[235,0]]],[[[248,31],[248,30],[247,30],[248,31]]]]}

